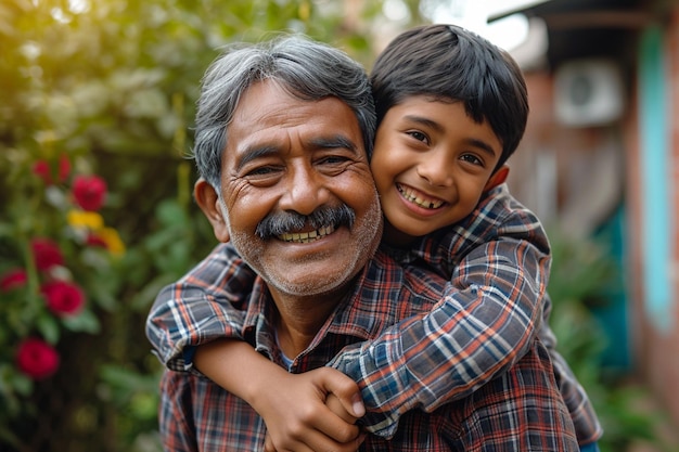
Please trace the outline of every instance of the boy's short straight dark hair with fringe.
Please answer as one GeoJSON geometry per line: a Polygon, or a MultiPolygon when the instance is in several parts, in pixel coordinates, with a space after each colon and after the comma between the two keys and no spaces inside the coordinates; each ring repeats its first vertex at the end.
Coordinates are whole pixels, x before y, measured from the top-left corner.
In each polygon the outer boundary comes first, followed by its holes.
{"type": "MultiPolygon", "coordinates": [[[[487,120],[502,143],[502,166],[518,146],[528,119],[526,82],[508,52],[453,25],[425,25],[397,36],[370,76],[377,124],[412,95],[463,102],[476,122],[487,120]]],[[[497,169],[496,168],[496,169],[497,169]]]]}

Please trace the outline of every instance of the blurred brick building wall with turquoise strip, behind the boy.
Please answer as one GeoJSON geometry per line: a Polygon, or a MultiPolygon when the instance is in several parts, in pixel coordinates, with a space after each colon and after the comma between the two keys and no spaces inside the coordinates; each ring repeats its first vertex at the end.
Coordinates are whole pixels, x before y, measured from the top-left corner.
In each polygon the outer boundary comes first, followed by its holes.
{"type": "Polygon", "coordinates": [[[509,183],[546,224],[575,237],[622,219],[625,312],[610,321],[612,346],[629,362],[614,364],[629,364],[679,425],[679,3],[551,0],[526,13],[545,18],[550,51],[526,72],[530,119],[509,183]],[[622,69],[623,111],[564,124],[560,68],[598,57],[622,69]]]}

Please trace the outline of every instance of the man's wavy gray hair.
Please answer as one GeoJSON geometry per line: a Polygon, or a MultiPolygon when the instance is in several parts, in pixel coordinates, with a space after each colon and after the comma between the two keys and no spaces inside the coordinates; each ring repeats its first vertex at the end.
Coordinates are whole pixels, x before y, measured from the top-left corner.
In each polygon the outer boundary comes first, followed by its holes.
{"type": "Polygon", "coordinates": [[[356,114],[370,157],[375,112],[363,67],[343,51],[305,36],[280,36],[256,44],[234,44],[205,73],[197,103],[193,156],[198,171],[220,188],[227,126],[241,95],[254,82],[276,80],[303,100],[335,96],[356,114]]]}

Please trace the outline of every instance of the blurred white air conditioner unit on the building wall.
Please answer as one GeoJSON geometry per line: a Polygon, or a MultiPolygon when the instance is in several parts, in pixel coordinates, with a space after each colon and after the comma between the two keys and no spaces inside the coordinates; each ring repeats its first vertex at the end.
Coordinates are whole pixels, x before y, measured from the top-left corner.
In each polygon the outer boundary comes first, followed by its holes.
{"type": "Polygon", "coordinates": [[[574,60],[561,65],[554,78],[556,120],[564,126],[603,126],[623,115],[623,78],[615,62],[574,60]]]}

